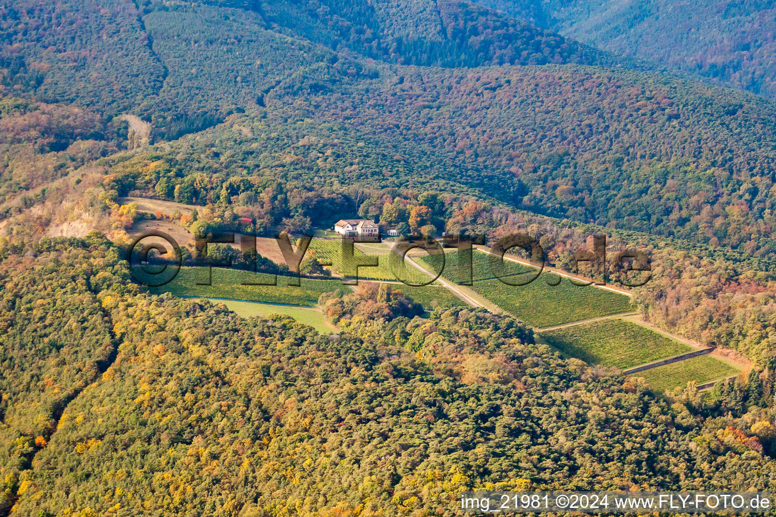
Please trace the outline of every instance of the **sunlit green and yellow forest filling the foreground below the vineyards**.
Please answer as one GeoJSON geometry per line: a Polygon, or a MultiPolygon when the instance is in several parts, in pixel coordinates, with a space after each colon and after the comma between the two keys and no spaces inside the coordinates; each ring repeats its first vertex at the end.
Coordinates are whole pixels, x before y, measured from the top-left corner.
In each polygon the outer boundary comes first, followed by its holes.
{"type": "Polygon", "coordinates": [[[348,314],[351,335],[320,336],[139,294],[96,234],[0,249],[4,360],[36,372],[2,388],[12,515],[451,515],[485,486],[746,490],[776,475],[769,417],[740,391],[666,402],[511,318],[408,320],[377,301],[363,329],[348,314]],[[37,357],[5,346],[29,312],[47,318],[37,357]],[[88,377],[45,363],[84,360],[85,344],[106,353],[88,377]],[[57,396],[69,404],[43,403],[57,396]]]}

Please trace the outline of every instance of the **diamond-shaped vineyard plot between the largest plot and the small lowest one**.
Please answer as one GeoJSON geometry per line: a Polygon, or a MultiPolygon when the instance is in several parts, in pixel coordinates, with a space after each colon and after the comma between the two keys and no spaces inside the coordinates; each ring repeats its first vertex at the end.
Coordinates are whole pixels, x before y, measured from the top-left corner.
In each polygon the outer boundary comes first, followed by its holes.
{"type": "Polygon", "coordinates": [[[622,319],[606,319],[539,334],[563,354],[588,364],[630,368],[690,352],[691,346],[622,319]]]}

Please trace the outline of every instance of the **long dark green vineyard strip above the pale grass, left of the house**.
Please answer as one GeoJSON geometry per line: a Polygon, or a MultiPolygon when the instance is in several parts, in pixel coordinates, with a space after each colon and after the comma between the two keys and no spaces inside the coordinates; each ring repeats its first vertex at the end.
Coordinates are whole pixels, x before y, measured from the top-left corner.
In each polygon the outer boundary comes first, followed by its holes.
{"type": "Polygon", "coordinates": [[[202,296],[210,298],[232,298],[248,302],[281,303],[288,305],[316,305],[324,292],[341,287],[339,280],[314,280],[302,278],[300,287],[289,286],[289,277],[278,275],[277,285],[242,285],[244,282],[272,281],[272,275],[255,274],[223,267],[213,267],[212,285],[197,285],[207,281],[206,267],[182,267],[170,283],[151,292],[171,292],[177,296],[202,296]]]}

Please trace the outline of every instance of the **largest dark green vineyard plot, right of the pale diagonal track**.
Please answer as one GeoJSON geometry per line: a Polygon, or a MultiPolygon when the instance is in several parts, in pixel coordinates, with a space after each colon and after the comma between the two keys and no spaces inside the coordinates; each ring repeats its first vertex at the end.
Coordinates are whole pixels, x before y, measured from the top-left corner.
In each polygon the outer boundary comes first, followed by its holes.
{"type": "MultiPolygon", "coordinates": [[[[505,284],[490,271],[488,255],[472,253],[473,286],[471,289],[499,308],[535,327],[549,327],[611,314],[629,312],[629,298],[591,285],[577,286],[568,278],[543,272],[526,285],[505,284]],[[552,285],[557,284],[557,285],[552,285]]],[[[441,265],[441,256],[421,257],[426,264],[441,265]]],[[[499,276],[512,284],[525,283],[536,274],[532,267],[505,261],[499,276]]],[[[447,253],[442,276],[453,282],[468,275],[459,267],[459,253],[447,253]]]]}

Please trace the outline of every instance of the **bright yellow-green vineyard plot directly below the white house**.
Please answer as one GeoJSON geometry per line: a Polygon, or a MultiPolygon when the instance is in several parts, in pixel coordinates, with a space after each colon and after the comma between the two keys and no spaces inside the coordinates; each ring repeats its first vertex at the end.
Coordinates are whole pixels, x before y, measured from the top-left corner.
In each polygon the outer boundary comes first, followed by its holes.
{"type": "Polygon", "coordinates": [[[341,277],[355,278],[355,264],[364,263],[367,260],[377,260],[377,266],[359,266],[358,277],[364,280],[381,281],[406,281],[411,284],[425,284],[430,277],[411,265],[400,260],[394,260],[396,267],[391,267],[390,252],[364,253],[354,246],[352,260],[343,260],[342,241],[336,239],[313,239],[307,250],[310,256],[318,258],[320,262],[332,264],[331,269],[341,277]],[[394,274],[394,269],[395,273],[394,274]]]}

